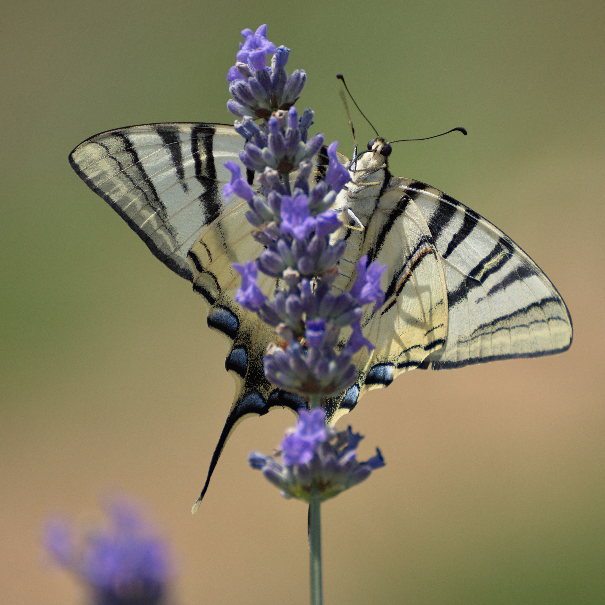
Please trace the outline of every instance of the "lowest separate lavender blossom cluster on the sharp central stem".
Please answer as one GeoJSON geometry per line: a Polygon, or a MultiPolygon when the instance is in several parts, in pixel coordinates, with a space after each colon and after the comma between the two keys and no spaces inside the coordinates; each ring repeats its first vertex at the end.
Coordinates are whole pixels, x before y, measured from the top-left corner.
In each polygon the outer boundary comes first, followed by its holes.
{"type": "Polygon", "coordinates": [[[281,463],[260,452],[248,458],[250,466],[262,471],[284,498],[327,500],[385,466],[378,448],[370,460],[356,460],[362,435],[353,433],[350,426],[341,432],[325,426],[323,409],[299,409],[298,414],[298,424],[281,441],[281,463]]]}

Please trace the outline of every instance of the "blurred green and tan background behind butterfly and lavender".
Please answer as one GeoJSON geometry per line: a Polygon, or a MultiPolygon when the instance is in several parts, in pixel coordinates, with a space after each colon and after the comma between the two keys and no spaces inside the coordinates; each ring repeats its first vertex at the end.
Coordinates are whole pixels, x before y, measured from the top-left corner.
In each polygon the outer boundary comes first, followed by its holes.
{"type": "Polygon", "coordinates": [[[343,153],[338,72],[387,139],[468,128],[397,145],[393,174],[508,233],[575,328],[564,355],[411,372],[341,420],[367,435],[360,458],[379,445],[388,464],[324,506],[325,602],[603,603],[604,14],[597,0],[6,0],[2,601],[81,603],[41,561],[42,523],[121,490],[179,554],[175,603],[308,602],[306,507],[246,466],[292,414],[238,428],[192,517],[232,400],[226,345],[67,162],[110,128],[231,122],[239,31],[267,22],[307,71],[298,107],[343,153]]]}

